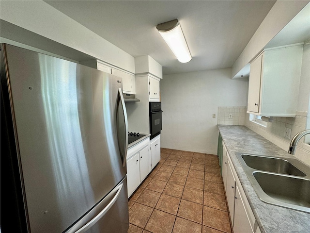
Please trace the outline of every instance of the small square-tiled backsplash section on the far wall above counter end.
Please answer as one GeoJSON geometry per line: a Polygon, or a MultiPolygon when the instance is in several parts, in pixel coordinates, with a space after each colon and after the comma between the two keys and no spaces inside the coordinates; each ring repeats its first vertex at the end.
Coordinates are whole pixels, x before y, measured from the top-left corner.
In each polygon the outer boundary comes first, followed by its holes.
{"type": "Polygon", "coordinates": [[[218,107],[217,124],[219,125],[245,125],[246,107],[218,107]]]}

